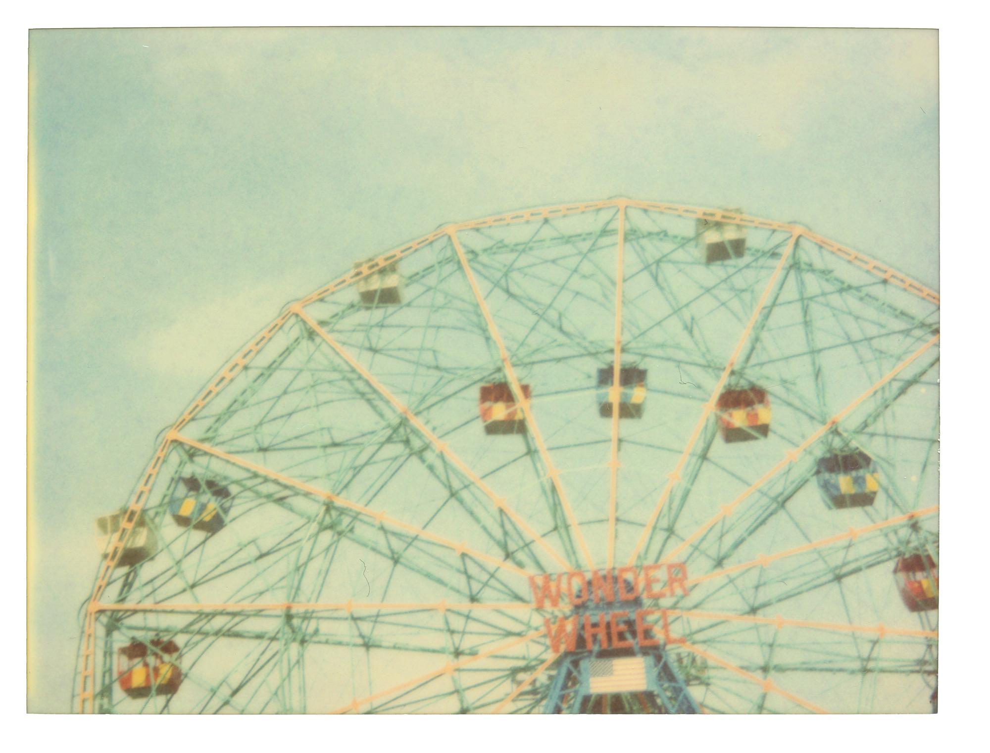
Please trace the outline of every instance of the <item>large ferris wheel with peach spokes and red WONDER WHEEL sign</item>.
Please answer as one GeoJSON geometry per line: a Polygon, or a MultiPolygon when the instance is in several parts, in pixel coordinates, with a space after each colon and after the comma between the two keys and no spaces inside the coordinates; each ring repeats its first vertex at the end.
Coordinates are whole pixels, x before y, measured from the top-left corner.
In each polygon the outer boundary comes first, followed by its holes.
{"type": "Polygon", "coordinates": [[[937,698],[937,293],[631,199],[354,256],[101,511],[74,710],[937,698]]]}

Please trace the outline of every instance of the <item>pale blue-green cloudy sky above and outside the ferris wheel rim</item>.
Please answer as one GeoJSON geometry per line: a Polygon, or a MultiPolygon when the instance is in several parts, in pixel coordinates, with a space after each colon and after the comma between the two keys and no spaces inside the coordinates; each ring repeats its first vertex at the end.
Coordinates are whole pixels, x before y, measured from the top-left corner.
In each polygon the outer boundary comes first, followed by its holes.
{"type": "Polygon", "coordinates": [[[799,222],[939,288],[935,32],[36,31],[29,54],[33,710],[68,707],[94,518],[355,258],[625,195],[799,222]]]}

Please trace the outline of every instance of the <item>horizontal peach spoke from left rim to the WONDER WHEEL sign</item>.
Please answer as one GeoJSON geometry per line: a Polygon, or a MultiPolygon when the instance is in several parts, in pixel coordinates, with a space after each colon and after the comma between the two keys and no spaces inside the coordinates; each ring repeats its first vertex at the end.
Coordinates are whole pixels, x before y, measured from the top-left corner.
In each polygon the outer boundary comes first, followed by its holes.
{"type": "Polygon", "coordinates": [[[96,612],[475,612],[533,610],[526,602],[279,602],[269,604],[98,604],[96,612]]]}

